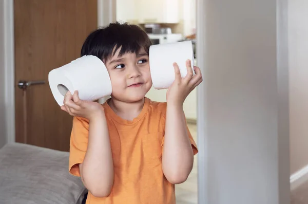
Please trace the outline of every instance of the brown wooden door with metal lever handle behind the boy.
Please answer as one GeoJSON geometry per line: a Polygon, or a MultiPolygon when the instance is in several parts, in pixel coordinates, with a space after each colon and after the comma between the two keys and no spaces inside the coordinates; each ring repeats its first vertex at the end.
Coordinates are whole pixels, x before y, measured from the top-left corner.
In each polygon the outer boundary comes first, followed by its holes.
{"type": "Polygon", "coordinates": [[[72,117],[55,102],[48,73],[80,57],[97,14],[97,0],[14,0],[16,142],[69,151],[72,117]],[[21,89],[21,80],[39,83],[21,89]]]}

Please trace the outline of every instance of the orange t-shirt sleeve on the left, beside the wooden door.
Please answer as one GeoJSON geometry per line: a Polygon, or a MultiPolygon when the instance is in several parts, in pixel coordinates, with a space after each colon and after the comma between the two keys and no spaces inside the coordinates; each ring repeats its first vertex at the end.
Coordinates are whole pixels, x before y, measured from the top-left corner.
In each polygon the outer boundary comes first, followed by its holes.
{"type": "Polygon", "coordinates": [[[74,117],[70,136],[69,173],[80,176],[79,164],[83,162],[88,147],[89,122],[85,118],[74,117]]]}

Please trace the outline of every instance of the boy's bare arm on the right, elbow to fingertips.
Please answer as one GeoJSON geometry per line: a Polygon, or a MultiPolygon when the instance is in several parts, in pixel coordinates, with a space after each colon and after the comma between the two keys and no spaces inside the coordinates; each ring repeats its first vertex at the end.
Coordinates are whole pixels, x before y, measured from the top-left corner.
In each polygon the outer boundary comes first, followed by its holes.
{"type": "Polygon", "coordinates": [[[186,61],[187,75],[182,78],[180,68],[174,63],[175,81],[167,91],[167,110],[162,166],[165,177],[171,183],[184,182],[194,163],[194,151],[186,128],[183,104],[189,93],[202,82],[199,67],[194,72],[186,61]]]}

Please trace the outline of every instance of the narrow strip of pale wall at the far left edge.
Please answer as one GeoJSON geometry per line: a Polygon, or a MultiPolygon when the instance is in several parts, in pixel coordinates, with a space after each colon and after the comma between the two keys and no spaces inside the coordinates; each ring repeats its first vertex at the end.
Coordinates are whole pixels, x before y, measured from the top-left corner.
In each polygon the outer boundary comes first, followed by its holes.
{"type": "Polygon", "coordinates": [[[0,148],[7,142],[5,122],[4,1],[0,1],[0,148]]]}

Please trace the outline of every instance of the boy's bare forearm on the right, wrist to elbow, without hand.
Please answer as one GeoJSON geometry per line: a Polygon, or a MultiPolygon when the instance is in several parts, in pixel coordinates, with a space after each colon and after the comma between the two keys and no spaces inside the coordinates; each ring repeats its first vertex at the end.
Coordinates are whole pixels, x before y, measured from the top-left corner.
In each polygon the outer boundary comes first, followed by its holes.
{"type": "Polygon", "coordinates": [[[167,103],[163,172],[172,183],[184,182],[194,162],[182,105],[167,103]]]}

